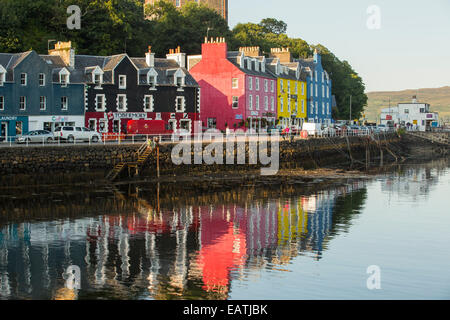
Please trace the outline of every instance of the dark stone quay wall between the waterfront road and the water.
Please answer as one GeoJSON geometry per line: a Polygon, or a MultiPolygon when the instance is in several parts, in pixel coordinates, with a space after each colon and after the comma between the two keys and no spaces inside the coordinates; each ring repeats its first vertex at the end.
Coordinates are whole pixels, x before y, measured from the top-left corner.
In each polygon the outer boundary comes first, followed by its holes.
{"type": "MultiPolygon", "coordinates": [[[[378,158],[380,148],[389,146],[395,154],[401,151],[401,138],[396,134],[377,137],[330,137],[308,140],[280,141],[279,167],[303,168],[362,163],[369,152],[370,160],[378,158]],[[367,151],[368,150],[368,151],[367,151]]],[[[210,145],[204,143],[203,148],[210,145]]],[[[98,183],[122,161],[136,161],[136,151],[140,144],[121,145],[60,145],[35,147],[5,147],[0,149],[0,186],[20,186],[27,184],[67,184],[75,182],[98,183]]],[[[194,148],[191,148],[192,164],[176,165],[172,161],[172,149],[176,144],[162,144],[159,147],[159,168],[161,176],[189,176],[209,173],[241,173],[268,165],[249,164],[249,144],[246,148],[246,164],[227,165],[226,144],[223,145],[224,164],[207,165],[194,163],[194,148]]],[[[266,146],[270,155],[270,142],[266,146]]],[[[387,161],[390,153],[384,153],[387,161]]],[[[236,163],[235,150],[235,163],[236,163]]],[[[157,156],[152,152],[139,178],[156,176],[157,156]]],[[[127,171],[127,170],[124,170],[127,171]]],[[[128,178],[128,171],[124,172],[128,178]]]]}

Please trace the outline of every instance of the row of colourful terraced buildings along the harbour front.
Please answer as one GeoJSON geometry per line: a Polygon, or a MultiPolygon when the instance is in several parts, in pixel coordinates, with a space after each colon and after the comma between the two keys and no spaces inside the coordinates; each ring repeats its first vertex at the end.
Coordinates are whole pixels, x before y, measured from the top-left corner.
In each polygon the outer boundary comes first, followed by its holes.
{"type": "Polygon", "coordinates": [[[164,120],[170,129],[262,129],[331,123],[331,80],[320,54],[293,59],[288,48],[269,57],[259,47],[228,51],[205,39],[201,55],[180,48],[156,58],[77,55],[58,42],[47,55],[0,53],[2,137],[60,126],[126,133],[129,120],[164,120]]]}

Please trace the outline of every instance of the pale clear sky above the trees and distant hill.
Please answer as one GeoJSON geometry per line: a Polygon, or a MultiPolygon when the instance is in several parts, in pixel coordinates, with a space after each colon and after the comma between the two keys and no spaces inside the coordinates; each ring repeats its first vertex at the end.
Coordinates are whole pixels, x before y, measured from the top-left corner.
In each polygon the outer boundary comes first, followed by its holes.
{"type": "Polygon", "coordinates": [[[367,92],[450,86],[450,0],[229,0],[230,28],[269,17],[347,60],[367,92]]]}

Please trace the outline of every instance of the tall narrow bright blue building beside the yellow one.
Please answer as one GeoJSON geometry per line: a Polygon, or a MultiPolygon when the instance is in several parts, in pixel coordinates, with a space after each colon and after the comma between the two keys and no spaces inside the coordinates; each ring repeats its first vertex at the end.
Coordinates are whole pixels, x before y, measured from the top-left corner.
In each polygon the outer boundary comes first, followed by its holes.
{"type": "Polygon", "coordinates": [[[332,94],[331,79],[328,72],[323,69],[322,58],[314,51],[314,57],[297,59],[297,62],[306,69],[308,122],[330,124],[332,123],[332,94]]]}

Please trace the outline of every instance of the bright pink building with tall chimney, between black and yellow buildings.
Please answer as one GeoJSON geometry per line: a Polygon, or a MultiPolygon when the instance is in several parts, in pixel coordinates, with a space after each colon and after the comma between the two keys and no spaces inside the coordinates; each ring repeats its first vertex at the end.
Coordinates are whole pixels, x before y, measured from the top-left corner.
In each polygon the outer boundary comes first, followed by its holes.
{"type": "Polygon", "coordinates": [[[277,79],[266,70],[259,47],[228,51],[223,38],[205,41],[202,54],[188,57],[200,85],[200,119],[219,130],[264,129],[277,118],[277,79]]]}

